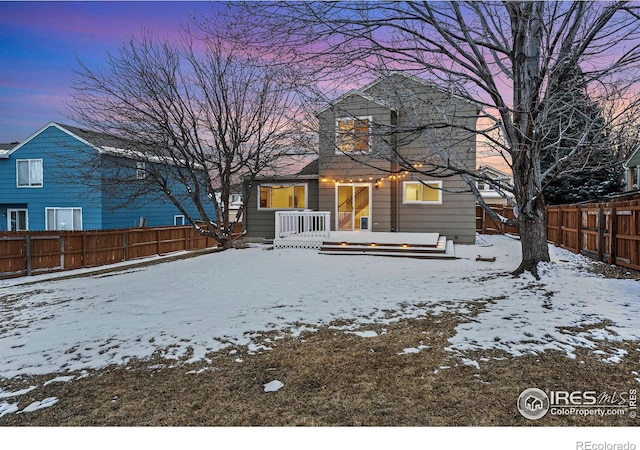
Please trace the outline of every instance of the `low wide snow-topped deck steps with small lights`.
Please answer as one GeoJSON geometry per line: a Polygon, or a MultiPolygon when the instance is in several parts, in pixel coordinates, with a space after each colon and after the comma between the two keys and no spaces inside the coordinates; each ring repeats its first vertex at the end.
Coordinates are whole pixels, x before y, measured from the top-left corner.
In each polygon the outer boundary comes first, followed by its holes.
{"type": "Polygon", "coordinates": [[[322,242],[324,255],[373,255],[454,259],[453,242],[437,233],[335,233],[322,242]]]}

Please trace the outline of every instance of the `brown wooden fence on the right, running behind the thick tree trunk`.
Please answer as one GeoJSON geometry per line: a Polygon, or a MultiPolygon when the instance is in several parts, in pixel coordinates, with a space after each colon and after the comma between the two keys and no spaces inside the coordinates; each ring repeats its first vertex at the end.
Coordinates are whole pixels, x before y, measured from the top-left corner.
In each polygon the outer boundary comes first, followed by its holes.
{"type": "MultiPolygon", "coordinates": [[[[492,206],[504,217],[513,209],[492,206]]],[[[640,200],[548,206],[547,239],[558,247],[598,261],[640,270],[640,200]]],[[[479,206],[476,231],[517,234],[517,228],[496,223],[479,206]]]]}

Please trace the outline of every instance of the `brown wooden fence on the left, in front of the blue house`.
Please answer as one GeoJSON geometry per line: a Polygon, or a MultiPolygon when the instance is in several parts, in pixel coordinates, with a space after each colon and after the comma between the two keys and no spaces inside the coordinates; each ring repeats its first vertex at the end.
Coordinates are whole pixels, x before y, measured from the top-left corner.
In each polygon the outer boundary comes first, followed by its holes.
{"type": "Polygon", "coordinates": [[[217,247],[191,226],[0,234],[0,278],[97,267],[184,250],[217,247]]]}

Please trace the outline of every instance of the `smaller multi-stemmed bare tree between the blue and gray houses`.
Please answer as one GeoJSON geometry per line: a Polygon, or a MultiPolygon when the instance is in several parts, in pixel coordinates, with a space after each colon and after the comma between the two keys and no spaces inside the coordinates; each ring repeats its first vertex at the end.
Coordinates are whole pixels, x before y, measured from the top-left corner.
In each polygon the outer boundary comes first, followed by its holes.
{"type": "Polygon", "coordinates": [[[216,30],[186,30],[180,42],[143,32],[103,68],[80,62],[68,105],[77,123],[122,143],[103,180],[112,193],[164,195],[229,248],[242,220],[242,209],[230,215],[233,187],[277,173],[308,149],[292,72],[240,49],[229,24],[216,30]],[[132,161],[143,163],[144,182],[131,182],[132,161]]]}

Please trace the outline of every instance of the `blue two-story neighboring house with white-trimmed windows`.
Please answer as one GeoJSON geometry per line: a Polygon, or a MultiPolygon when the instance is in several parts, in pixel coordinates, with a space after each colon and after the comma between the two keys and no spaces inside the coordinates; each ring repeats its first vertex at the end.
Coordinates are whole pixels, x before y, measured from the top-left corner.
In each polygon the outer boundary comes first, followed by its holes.
{"type": "MultiPolygon", "coordinates": [[[[112,136],[55,122],[24,142],[0,144],[0,231],[186,225],[184,214],[161,192],[143,188],[149,163],[125,156],[121,145],[112,136]],[[96,157],[106,164],[96,165],[96,157]],[[87,167],[102,172],[87,177],[87,167]],[[108,187],[110,170],[130,182],[114,191],[108,187]],[[141,188],[148,192],[127,195],[141,188]]],[[[177,183],[175,189],[180,189],[177,183]]],[[[192,202],[183,205],[199,217],[192,202]]],[[[210,214],[215,217],[213,206],[210,214]]]]}

